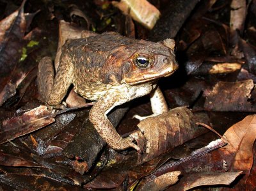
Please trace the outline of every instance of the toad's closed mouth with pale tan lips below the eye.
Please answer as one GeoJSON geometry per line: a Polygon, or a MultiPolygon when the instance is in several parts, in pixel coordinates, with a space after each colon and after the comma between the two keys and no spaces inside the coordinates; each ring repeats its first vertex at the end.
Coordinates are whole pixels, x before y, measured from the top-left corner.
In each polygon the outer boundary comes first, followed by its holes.
{"type": "Polygon", "coordinates": [[[147,72],[147,73],[134,73],[132,77],[124,77],[125,84],[136,85],[143,84],[145,82],[154,81],[161,77],[168,77],[172,75],[178,69],[178,65],[174,67],[166,68],[161,72],[147,72]]]}

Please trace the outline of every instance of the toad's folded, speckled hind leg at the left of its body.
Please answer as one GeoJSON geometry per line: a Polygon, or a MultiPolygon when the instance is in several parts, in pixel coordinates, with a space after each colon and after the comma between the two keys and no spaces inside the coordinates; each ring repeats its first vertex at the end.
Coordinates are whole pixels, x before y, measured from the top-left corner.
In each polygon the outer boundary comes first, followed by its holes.
{"type": "Polygon", "coordinates": [[[49,105],[58,105],[67,94],[74,79],[74,66],[68,56],[63,56],[54,78],[51,57],[43,57],[38,64],[38,91],[49,105]]]}

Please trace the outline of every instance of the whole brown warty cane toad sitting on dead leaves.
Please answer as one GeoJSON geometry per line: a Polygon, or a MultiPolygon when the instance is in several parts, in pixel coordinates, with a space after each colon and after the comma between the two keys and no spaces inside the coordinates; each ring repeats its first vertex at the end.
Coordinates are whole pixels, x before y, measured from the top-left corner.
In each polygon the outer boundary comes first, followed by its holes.
{"type": "Polygon", "coordinates": [[[149,42],[108,32],[67,40],[54,76],[50,57],[38,65],[38,89],[48,105],[58,105],[71,84],[88,100],[97,100],[89,119],[113,149],[140,148],[132,137],[122,138],[109,121],[113,107],[150,93],[154,115],[168,111],[157,79],[177,69],[175,42],[149,42]]]}

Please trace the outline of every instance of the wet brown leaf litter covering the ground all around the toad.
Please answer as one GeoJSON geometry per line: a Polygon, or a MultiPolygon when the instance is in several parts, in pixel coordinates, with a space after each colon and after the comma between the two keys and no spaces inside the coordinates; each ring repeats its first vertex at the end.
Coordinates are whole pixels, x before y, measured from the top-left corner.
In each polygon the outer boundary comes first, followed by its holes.
{"type": "MultiPolygon", "coordinates": [[[[1,2],[6,12],[12,3],[1,2]]],[[[12,14],[1,15],[5,17],[0,21],[1,188],[204,190],[218,185],[221,190],[255,189],[255,1],[190,1],[189,6],[186,0],[150,1],[152,10],[161,13],[151,31],[143,27],[145,20],[136,19],[146,14],[136,10],[139,3],[122,12],[111,3],[28,0],[17,4],[20,8],[12,14]],[[76,11],[71,8],[68,14],[70,6],[76,11]],[[136,11],[141,15],[134,17],[136,11]],[[39,106],[43,103],[38,101],[35,68],[42,56],[55,57],[58,39],[51,32],[59,28],[57,68],[65,39],[86,36],[88,27],[97,33],[117,31],[177,42],[180,70],[159,82],[174,111],[138,124],[134,114],[150,114],[148,99],[143,97],[127,114],[125,109],[109,116],[120,134],[134,134],[144,148],[142,155],[106,147],[84,109],[93,103],[85,103],[74,91],[66,101],[75,108],[58,116],[39,106]],[[227,121],[235,125],[228,128],[227,121]],[[218,139],[196,123],[225,134],[218,139]]]]}

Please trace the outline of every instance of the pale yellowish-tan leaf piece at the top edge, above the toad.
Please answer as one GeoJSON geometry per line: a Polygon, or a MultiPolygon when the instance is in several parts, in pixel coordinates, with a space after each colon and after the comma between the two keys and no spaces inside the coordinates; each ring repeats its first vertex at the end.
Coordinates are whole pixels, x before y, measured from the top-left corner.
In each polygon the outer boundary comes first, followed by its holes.
{"type": "Polygon", "coordinates": [[[160,11],[147,0],[112,1],[112,4],[148,29],[152,29],[160,17],[160,11]]]}

